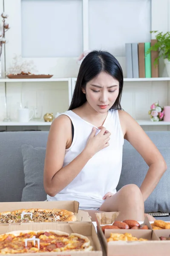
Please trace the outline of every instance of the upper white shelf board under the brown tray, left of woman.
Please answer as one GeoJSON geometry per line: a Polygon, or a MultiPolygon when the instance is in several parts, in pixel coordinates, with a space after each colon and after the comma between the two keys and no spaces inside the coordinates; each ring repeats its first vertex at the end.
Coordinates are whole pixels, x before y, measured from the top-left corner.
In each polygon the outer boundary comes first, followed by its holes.
{"type": "Polygon", "coordinates": [[[69,78],[36,78],[36,79],[9,79],[9,78],[0,78],[0,83],[11,83],[11,82],[61,82],[69,81],[69,78]]]}

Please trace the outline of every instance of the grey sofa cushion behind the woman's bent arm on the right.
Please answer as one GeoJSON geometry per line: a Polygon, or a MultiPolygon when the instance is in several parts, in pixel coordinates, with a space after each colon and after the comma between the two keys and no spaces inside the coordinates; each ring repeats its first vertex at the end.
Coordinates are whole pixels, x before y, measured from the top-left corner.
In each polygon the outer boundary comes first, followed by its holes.
{"type": "MultiPolygon", "coordinates": [[[[158,148],[167,163],[167,171],[161,177],[156,189],[145,201],[145,212],[170,212],[170,148],[158,148]]],[[[141,186],[148,166],[135,148],[123,149],[122,171],[117,190],[133,183],[141,186]]]]}

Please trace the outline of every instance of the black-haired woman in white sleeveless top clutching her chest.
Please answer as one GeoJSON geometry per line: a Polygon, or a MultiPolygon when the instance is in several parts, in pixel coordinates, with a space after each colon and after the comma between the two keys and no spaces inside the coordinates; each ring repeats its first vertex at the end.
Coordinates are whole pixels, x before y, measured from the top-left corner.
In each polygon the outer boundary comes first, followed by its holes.
{"type": "Polygon", "coordinates": [[[49,131],[44,166],[48,201],[76,200],[92,219],[96,211],[119,211],[118,220],[144,220],[144,201],[167,166],[140,125],[121,110],[122,89],[121,66],[109,52],[92,51],[84,58],[69,111],[49,131]],[[116,192],[124,139],[149,169],[140,189],[129,184],[116,192]]]}

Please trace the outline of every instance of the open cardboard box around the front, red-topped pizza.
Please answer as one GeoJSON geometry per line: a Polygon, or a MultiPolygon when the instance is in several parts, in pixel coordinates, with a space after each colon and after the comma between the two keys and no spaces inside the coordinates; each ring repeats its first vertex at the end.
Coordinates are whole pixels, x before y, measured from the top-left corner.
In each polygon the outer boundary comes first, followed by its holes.
{"type": "MultiPolygon", "coordinates": [[[[87,236],[90,240],[90,245],[92,245],[92,251],[63,251],[63,252],[47,252],[47,253],[20,253],[19,256],[102,256],[102,248],[100,241],[98,239],[95,227],[91,221],[87,222],[46,222],[46,223],[21,223],[20,225],[1,225],[0,234],[17,231],[17,230],[59,230],[66,233],[78,233],[83,236],[87,236]]],[[[16,254],[10,254],[16,255],[16,254]]]]}

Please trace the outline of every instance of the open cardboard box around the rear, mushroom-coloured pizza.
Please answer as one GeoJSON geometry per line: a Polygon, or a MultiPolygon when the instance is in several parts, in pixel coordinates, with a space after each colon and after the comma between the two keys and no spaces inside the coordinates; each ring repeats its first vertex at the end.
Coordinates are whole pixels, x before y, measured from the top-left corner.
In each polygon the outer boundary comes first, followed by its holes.
{"type": "MultiPolygon", "coordinates": [[[[88,212],[78,209],[78,201],[37,201],[37,202],[0,202],[0,212],[14,211],[18,209],[65,209],[74,212],[77,221],[91,221],[88,212]]],[[[3,224],[2,224],[3,225],[3,224]]]]}

